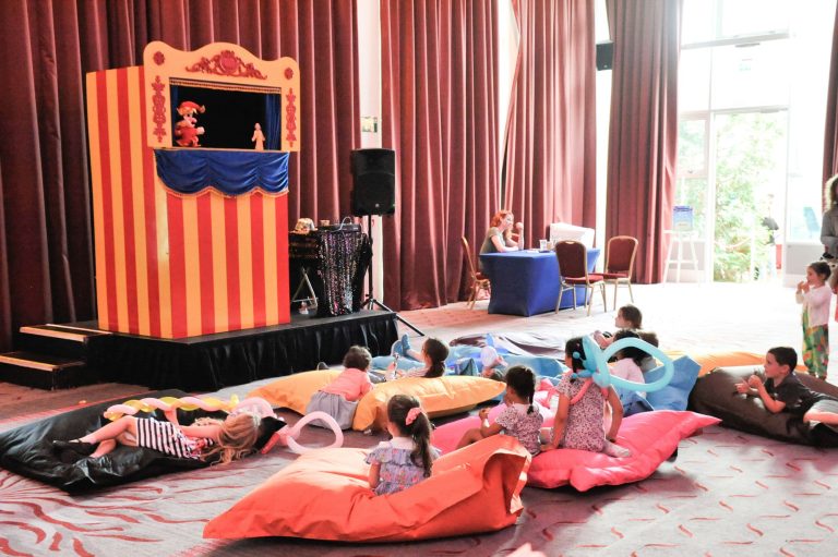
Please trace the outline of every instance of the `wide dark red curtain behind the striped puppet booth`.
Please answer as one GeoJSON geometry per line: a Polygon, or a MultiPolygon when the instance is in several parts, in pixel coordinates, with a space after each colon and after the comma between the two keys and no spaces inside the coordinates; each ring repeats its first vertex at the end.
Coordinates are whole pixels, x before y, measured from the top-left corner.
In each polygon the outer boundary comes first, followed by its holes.
{"type": "Polygon", "coordinates": [[[152,40],[235,43],[301,71],[289,213],[349,213],[360,144],[356,2],[5,0],[0,17],[0,351],[22,325],[96,316],[85,137],[86,72],[136,65],[152,40]],[[344,185],[344,187],[340,187],[344,185]]]}

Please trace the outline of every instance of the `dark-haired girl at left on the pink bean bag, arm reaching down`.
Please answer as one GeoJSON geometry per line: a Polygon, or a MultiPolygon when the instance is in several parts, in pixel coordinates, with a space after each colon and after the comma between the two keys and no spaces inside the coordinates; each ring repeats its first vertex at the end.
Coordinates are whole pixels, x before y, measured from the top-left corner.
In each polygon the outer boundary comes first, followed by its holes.
{"type": "Polygon", "coordinates": [[[506,372],[506,408],[489,423],[489,409],[480,410],[480,427],[467,431],[457,448],[465,447],[486,437],[504,433],[517,437],[530,455],[540,451],[539,433],[544,419],[532,405],[536,393],[536,374],[526,365],[513,365],[506,372]]]}

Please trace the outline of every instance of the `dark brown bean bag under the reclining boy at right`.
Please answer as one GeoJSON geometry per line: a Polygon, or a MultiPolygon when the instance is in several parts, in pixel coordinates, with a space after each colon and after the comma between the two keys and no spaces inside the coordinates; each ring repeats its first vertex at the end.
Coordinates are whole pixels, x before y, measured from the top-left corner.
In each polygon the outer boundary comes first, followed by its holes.
{"type": "MultiPolygon", "coordinates": [[[[721,425],[782,441],[838,447],[838,434],[823,424],[805,424],[789,412],[773,414],[757,397],[737,392],[737,384],[751,374],[764,377],[763,366],[720,367],[701,377],[690,395],[690,408],[721,419],[721,425]]],[[[812,390],[838,398],[838,387],[806,373],[801,383],[812,390]]]]}

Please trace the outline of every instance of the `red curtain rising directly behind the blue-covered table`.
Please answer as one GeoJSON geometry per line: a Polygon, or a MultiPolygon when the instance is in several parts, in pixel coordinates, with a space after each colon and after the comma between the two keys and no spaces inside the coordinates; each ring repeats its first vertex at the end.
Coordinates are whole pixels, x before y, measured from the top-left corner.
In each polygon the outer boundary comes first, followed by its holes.
{"type": "MultiPolygon", "coordinates": [[[[594,0],[513,2],[520,45],[506,135],[504,208],[527,246],[551,222],[596,221],[594,0]]],[[[496,207],[501,208],[501,207],[496,207]]]]}

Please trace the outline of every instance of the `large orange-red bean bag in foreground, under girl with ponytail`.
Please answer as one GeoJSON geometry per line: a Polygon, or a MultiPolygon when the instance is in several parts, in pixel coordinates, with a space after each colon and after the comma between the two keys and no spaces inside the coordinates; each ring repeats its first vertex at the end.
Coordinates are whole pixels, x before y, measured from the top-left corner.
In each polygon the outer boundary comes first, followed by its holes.
{"type": "Polygon", "coordinates": [[[204,537],[295,536],[393,542],[490,532],[514,524],[529,453],[496,436],[441,457],[404,492],[374,496],[362,449],[299,457],[204,528],[204,537]]]}

